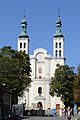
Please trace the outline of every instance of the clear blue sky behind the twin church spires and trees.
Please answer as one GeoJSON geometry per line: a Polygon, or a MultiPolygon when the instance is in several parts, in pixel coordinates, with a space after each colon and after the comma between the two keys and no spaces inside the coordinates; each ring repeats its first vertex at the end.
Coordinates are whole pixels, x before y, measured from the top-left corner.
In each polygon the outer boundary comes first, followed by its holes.
{"type": "Polygon", "coordinates": [[[11,46],[17,50],[24,9],[30,54],[40,47],[51,55],[60,9],[66,64],[77,67],[80,64],[80,0],[0,0],[0,48],[11,46]]]}

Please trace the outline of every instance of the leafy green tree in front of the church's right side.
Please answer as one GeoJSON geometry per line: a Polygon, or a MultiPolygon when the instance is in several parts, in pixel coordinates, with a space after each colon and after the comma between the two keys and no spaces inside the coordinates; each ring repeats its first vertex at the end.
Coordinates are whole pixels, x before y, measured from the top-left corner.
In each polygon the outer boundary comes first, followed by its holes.
{"type": "Polygon", "coordinates": [[[73,81],[73,68],[64,65],[55,70],[54,78],[50,83],[50,94],[60,96],[66,107],[73,101],[73,81]]]}

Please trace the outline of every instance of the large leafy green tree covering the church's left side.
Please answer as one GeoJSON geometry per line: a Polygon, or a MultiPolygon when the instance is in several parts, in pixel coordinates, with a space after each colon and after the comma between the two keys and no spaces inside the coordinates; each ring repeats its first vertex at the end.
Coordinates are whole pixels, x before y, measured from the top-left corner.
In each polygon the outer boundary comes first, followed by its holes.
{"type": "Polygon", "coordinates": [[[30,72],[30,59],[25,52],[10,46],[0,50],[0,84],[5,84],[12,94],[19,96],[30,85],[30,72]]]}

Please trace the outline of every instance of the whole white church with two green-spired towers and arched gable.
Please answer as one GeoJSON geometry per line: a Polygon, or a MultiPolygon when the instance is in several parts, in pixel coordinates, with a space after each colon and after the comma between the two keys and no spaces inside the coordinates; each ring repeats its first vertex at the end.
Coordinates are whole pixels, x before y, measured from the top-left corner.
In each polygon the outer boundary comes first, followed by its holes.
{"type": "MultiPolygon", "coordinates": [[[[61,19],[56,21],[56,32],[53,36],[53,55],[48,55],[44,48],[37,48],[30,55],[31,63],[31,86],[24,91],[23,97],[19,97],[18,103],[25,103],[25,109],[56,109],[63,108],[60,97],[52,97],[49,94],[51,78],[54,77],[57,65],[65,64],[64,36],[61,31],[61,19]]],[[[18,51],[29,54],[29,36],[27,34],[27,21],[25,16],[21,21],[21,34],[18,37],[18,51]]],[[[50,47],[50,46],[49,46],[50,47]]]]}

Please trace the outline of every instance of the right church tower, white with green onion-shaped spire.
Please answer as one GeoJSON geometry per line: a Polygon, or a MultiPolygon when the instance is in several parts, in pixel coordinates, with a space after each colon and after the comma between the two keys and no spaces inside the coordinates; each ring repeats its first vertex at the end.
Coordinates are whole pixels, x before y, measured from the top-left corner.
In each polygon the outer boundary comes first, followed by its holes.
{"type": "Polygon", "coordinates": [[[53,40],[53,56],[54,58],[64,58],[64,36],[61,31],[61,19],[60,15],[58,15],[56,21],[56,33],[54,34],[53,40]]]}

